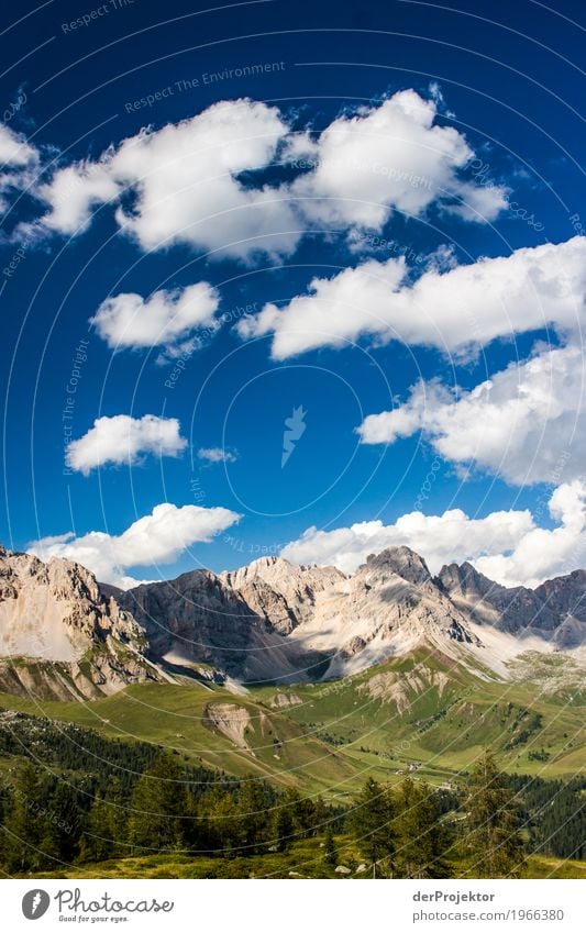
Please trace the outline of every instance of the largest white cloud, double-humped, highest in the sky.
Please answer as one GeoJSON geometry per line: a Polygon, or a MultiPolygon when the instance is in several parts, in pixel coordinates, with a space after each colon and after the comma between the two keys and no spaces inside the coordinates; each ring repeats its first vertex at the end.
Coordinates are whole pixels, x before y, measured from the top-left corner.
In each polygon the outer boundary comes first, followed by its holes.
{"type": "Polygon", "coordinates": [[[292,253],[308,226],[380,230],[392,210],[420,215],[434,202],[493,220],[506,189],[462,177],[474,152],[436,115],[436,95],[405,90],[336,118],[316,137],[294,132],[276,107],[219,101],[57,170],[37,190],[48,208],[42,222],[73,235],[112,202],[120,227],[143,249],[187,244],[250,259],[292,253]],[[297,175],[292,181],[255,184],[255,174],[279,163],[297,175]]]}

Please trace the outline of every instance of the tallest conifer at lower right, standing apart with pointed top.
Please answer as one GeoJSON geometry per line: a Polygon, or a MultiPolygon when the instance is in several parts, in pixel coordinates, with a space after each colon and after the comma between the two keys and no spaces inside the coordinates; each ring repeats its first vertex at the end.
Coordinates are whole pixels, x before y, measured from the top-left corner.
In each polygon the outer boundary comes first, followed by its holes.
{"type": "Polygon", "coordinates": [[[474,877],[518,877],[524,862],[519,817],[490,752],[485,752],[472,773],[466,811],[465,848],[472,856],[474,877]]]}

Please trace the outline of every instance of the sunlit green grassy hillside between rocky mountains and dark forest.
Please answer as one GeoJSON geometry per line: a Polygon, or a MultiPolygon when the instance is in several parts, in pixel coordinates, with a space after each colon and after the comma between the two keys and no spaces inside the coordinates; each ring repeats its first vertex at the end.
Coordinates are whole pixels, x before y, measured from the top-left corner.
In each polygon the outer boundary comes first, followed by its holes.
{"type": "MultiPolygon", "coordinates": [[[[557,671],[560,662],[552,666],[557,671]]],[[[545,692],[542,681],[539,689],[500,681],[429,651],[340,681],[251,686],[242,696],[186,681],[135,685],[84,703],[2,693],[0,707],[152,742],[229,774],[252,773],[331,798],[352,793],[366,774],[399,780],[418,770],[449,782],[487,745],[505,770],[546,778],[574,776],[585,757],[583,696],[568,696],[563,678],[559,690],[545,692]],[[209,713],[218,704],[228,718],[223,731],[209,713]]]]}

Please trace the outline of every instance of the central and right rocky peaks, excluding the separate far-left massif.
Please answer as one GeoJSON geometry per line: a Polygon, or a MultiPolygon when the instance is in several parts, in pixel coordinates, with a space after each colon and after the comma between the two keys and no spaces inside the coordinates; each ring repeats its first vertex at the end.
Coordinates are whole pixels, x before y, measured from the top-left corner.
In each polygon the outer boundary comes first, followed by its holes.
{"type": "Polygon", "coordinates": [[[508,656],[517,653],[516,638],[523,651],[528,635],[544,649],[573,647],[586,630],[585,578],[576,571],[535,590],[507,589],[469,564],[433,578],[409,547],[391,547],[353,576],[265,557],[219,576],[200,570],[147,584],[118,599],[156,656],[204,662],[241,679],[295,682],[343,677],[421,645],[454,659],[474,652],[496,669],[491,631],[512,636],[508,656]]]}

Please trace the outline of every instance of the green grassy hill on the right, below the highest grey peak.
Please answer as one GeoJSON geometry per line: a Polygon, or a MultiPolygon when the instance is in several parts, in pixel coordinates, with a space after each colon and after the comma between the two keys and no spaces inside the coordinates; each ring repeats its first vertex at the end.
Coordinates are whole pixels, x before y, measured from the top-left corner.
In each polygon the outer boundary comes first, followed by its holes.
{"type": "MultiPolygon", "coordinates": [[[[427,778],[442,782],[487,745],[510,773],[571,777],[584,766],[584,707],[575,697],[568,702],[531,684],[480,679],[439,653],[279,692],[295,695],[296,703],[281,709],[308,735],[390,777],[420,765],[427,778]]],[[[265,703],[274,695],[270,688],[255,693],[265,703]]]]}

